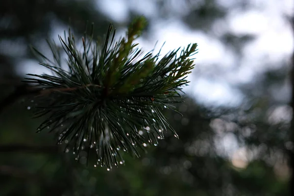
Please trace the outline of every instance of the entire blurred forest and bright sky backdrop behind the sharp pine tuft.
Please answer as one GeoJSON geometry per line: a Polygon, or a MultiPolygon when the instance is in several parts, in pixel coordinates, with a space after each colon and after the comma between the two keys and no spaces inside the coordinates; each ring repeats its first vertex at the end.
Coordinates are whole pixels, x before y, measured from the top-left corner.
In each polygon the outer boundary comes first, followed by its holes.
{"type": "Polygon", "coordinates": [[[0,196],[290,196],[293,15],[292,0],[1,0],[0,196]],[[1,103],[26,73],[48,72],[29,45],[50,55],[46,39],[87,21],[95,36],[110,22],[124,35],[137,15],[145,51],[198,44],[184,117],[166,112],[179,139],[108,172],[35,133],[33,99],[1,103]]]}

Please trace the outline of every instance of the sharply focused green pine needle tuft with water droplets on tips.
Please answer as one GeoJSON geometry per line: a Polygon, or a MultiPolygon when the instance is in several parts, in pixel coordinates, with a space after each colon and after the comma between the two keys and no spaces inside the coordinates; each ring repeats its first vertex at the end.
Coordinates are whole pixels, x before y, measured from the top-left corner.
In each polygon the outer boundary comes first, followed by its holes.
{"type": "Polygon", "coordinates": [[[140,58],[143,50],[134,41],[145,24],[144,18],[137,18],[126,38],[117,42],[110,25],[103,45],[85,33],[81,51],[69,30],[68,36],[59,36],[67,55],[66,68],[54,42],[48,42],[53,60],[33,49],[43,59],[40,65],[52,71],[25,78],[39,90],[36,117],[47,116],[38,131],[55,132],[58,144],[73,150],[76,159],[86,151],[88,160],[93,148],[95,166],[106,165],[110,170],[124,162],[121,150],[139,156],[138,147],[145,151],[147,143],[156,146],[167,130],[178,137],[162,110],[175,110],[172,104],[182,101],[179,92],[189,83],[186,75],[194,68],[189,57],[197,45],[173,50],[161,59],[152,51],[140,58]]]}

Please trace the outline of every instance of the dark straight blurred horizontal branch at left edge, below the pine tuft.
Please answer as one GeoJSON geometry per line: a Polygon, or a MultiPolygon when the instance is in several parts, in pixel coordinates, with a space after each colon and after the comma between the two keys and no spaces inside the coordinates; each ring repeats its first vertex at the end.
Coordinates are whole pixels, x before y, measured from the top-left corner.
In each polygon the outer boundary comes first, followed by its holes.
{"type": "Polygon", "coordinates": [[[57,146],[27,146],[23,144],[0,145],[0,152],[28,152],[28,153],[52,153],[58,152],[57,146]]]}

